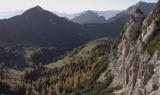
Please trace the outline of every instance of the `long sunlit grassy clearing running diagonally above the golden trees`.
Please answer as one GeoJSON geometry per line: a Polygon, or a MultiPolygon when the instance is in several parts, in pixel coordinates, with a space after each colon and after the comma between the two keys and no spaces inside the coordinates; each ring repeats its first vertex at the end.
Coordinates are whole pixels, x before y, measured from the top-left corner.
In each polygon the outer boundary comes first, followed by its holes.
{"type": "Polygon", "coordinates": [[[50,63],[48,65],[45,65],[45,67],[49,68],[49,69],[54,69],[54,68],[61,67],[61,66],[64,66],[64,65],[70,63],[70,61],[73,59],[73,57],[80,57],[80,56],[88,57],[88,56],[92,55],[91,53],[94,52],[92,50],[97,45],[105,44],[105,43],[108,43],[108,40],[100,39],[100,40],[95,40],[95,41],[89,42],[87,44],[84,44],[84,45],[74,49],[72,52],[67,54],[67,56],[65,56],[64,58],[62,58],[56,62],[50,63]]]}

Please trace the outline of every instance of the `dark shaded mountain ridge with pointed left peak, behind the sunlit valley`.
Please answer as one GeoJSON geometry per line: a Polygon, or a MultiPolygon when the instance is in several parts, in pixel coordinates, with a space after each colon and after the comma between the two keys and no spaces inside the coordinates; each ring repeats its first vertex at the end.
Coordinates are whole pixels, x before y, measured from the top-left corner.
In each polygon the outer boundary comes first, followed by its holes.
{"type": "MultiPolygon", "coordinates": [[[[0,42],[1,45],[53,46],[61,52],[65,52],[90,40],[119,35],[124,23],[128,21],[131,15],[126,15],[126,13],[132,13],[131,10],[142,7],[142,11],[148,14],[153,6],[154,4],[152,3],[139,2],[107,20],[107,23],[94,24],[91,19],[93,23],[85,25],[73,23],[66,18],[59,17],[52,12],[42,9],[40,6],[36,6],[25,11],[22,15],[1,20],[0,42]],[[144,6],[149,7],[143,8],[144,6]]],[[[97,19],[98,22],[99,19],[103,22],[105,20],[104,17],[98,16],[95,12],[87,11],[86,13],[89,13],[89,17],[99,17],[97,19]]]]}

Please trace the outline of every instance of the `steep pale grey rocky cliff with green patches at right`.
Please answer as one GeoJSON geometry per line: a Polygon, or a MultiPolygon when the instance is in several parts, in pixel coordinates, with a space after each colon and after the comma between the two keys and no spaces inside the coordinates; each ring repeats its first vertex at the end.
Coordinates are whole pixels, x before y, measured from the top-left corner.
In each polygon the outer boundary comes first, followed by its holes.
{"type": "MultiPolygon", "coordinates": [[[[160,94],[160,1],[145,17],[137,9],[126,23],[118,44],[113,46],[107,71],[111,86],[121,86],[116,95],[160,94]]],[[[104,79],[102,74],[100,81],[104,79]]]]}

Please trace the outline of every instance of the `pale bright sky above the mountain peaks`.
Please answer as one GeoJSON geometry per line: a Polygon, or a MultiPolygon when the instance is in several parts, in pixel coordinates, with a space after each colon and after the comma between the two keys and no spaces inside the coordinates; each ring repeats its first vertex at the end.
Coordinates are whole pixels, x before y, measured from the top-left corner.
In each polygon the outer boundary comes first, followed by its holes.
{"type": "Polygon", "coordinates": [[[50,11],[78,13],[84,10],[124,10],[139,1],[158,0],[0,0],[0,12],[27,10],[36,5],[50,11]]]}

